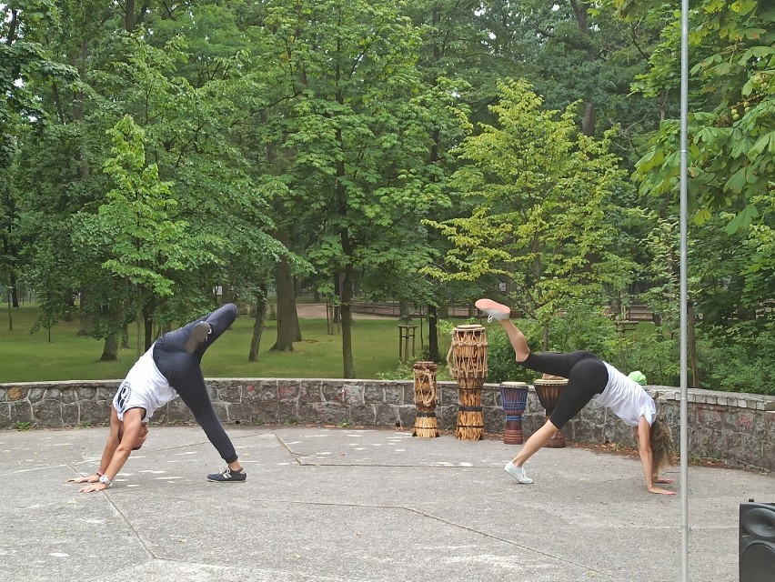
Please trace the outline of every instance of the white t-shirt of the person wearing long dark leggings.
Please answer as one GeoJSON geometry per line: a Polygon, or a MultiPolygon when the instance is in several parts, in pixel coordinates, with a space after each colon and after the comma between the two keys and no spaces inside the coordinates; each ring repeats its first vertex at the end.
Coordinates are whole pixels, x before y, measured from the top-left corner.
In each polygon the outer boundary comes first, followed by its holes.
{"type": "Polygon", "coordinates": [[[118,419],[124,420],[124,412],[129,408],[145,408],[146,416],[143,422],[148,422],[154,411],[159,406],[177,396],[172,386],[166,381],[166,377],[158,371],[154,362],[154,346],[137,360],[135,366],[129,370],[124,382],[118,386],[116,396],[113,397],[113,407],[116,408],[118,419]]]}

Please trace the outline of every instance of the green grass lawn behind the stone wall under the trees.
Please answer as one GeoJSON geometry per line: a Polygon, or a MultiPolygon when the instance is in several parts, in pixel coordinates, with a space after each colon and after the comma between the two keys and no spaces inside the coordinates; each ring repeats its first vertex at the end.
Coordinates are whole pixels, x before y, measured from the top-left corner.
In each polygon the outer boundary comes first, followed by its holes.
{"type": "MultiPolygon", "coordinates": [[[[13,330],[8,329],[7,307],[4,311],[4,323],[0,329],[0,383],[120,379],[126,376],[136,361],[134,336],[130,337],[132,346],[119,352],[119,361],[100,362],[104,342],[77,336],[77,321],[57,324],[51,330],[49,342],[45,329],[30,334],[38,316],[35,306],[11,310],[13,330]]],[[[325,319],[300,319],[299,324],[304,340],[294,344],[293,352],[270,352],[268,350],[277,337],[277,327],[276,322],[267,322],[258,361],[248,362],[253,320],[240,316],[232,329],[207,350],[202,371],[206,377],[344,376],[342,336],[329,336],[325,319]]],[[[130,327],[130,335],[134,335],[135,329],[135,326],[130,327]]],[[[419,347],[418,337],[418,352],[419,347]]],[[[353,324],[353,356],[359,378],[376,378],[379,373],[395,371],[398,367],[397,321],[356,320],[353,324]]]]}

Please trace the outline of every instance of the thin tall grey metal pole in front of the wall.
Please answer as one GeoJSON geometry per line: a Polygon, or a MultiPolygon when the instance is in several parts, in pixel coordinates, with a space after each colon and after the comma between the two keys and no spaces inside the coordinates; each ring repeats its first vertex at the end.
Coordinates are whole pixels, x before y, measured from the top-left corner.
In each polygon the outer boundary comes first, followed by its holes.
{"type": "Polygon", "coordinates": [[[680,14],[680,505],[681,580],[689,580],[689,414],[687,409],[687,116],[689,114],[689,0],[680,14]]]}

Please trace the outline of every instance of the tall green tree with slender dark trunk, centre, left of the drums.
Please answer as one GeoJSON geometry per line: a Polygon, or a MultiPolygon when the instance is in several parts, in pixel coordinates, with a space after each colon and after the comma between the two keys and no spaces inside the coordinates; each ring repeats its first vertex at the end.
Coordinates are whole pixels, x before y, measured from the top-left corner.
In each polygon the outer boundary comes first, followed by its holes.
{"type": "MultiPolygon", "coordinates": [[[[425,160],[435,123],[416,68],[418,30],[393,2],[277,2],[273,31],[287,115],[277,157],[294,200],[294,232],[341,306],[345,377],[354,377],[351,302],[359,273],[395,255],[391,238],[433,203],[425,160]],[[338,288],[337,288],[338,286],[338,288]]],[[[450,96],[448,95],[448,99],[450,96]]]]}

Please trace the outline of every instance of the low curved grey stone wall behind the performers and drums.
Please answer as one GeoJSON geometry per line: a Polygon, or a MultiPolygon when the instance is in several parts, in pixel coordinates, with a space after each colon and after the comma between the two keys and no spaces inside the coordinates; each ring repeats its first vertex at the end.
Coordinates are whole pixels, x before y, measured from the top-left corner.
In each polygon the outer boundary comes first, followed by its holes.
{"type": "MultiPolygon", "coordinates": [[[[0,384],[0,428],[61,427],[106,424],[118,380],[0,384]]],[[[414,425],[414,383],[392,380],[210,379],[210,397],[226,423],[324,424],[356,426],[414,425]]],[[[659,414],[672,426],[679,443],[680,391],[647,386],[659,414]]],[[[713,457],[731,467],[775,470],[775,396],[689,390],[689,452],[713,457]]],[[[482,389],[485,429],[503,431],[505,416],[498,386],[482,389]]],[[[438,383],[438,426],[457,423],[458,386],[438,383]]],[[[523,422],[529,435],[544,421],[532,386],[523,422]]],[[[156,411],[156,424],[193,422],[180,401],[156,411]]],[[[585,443],[619,443],[634,447],[632,429],[594,402],[563,429],[565,437],[585,443]]]]}

